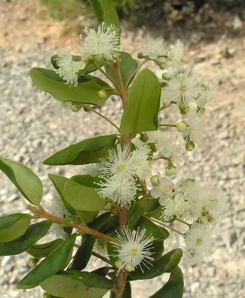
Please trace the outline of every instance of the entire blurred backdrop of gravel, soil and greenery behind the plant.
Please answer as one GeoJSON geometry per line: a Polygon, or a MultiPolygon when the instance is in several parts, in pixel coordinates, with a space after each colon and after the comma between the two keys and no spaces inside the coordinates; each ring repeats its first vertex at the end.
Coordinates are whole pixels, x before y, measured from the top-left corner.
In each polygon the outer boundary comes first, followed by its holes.
{"type": "MultiPolygon", "coordinates": [[[[184,270],[184,298],[245,298],[245,1],[244,0],[113,0],[122,26],[122,48],[137,59],[148,32],[165,38],[169,45],[181,39],[185,44],[184,66],[192,64],[204,78],[220,83],[218,108],[207,113],[205,148],[186,152],[184,165],[174,182],[195,178],[213,184],[229,196],[230,212],[217,225],[219,243],[209,264],[201,270],[184,270]]],[[[67,177],[77,166],[44,166],[42,161],[55,151],[79,142],[85,135],[115,133],[97,115],[79,111],[57,117],[49,94],[33,86],[32,67],[52,69],[50,57],[60,49],[76,54],[75,46],[84,27],[96,28],[88,1],[0,0],[0,156],[30,167],[42,180],[48,207],[52,184],[47,173],[67,177]]],[[[149,63],[161,78],[161,71],[149,63]]],[[[120,125],[121,103],[113,97],[99,108],[120,125]]],[[[160,115],[162,123],[182,118],[171,106],[160,115]]],[[[177,132],[165,129],[173,142],[182,146],[177,132]]],[[[159,168],[163,165],[159,164],[159,168]]],[[[0,172],[0,216],[27,212],[27,201],[0,172]]],[[[181,229],[181,227],[178,227],[181,229]]],[[[179,246],[171,234],[165,252],[179,246]]],[[[51,238],[49,239],[51,240],[51,238]]],[[[41,298],[40,288],[18,290],[16,284],[30,270],[30,256],[0,257],[1,298],[41,298]]],[[[90,264],[91,268],[97,262],[90,264]]],[[[132,283],[133,298],[147,298],[168,280],[168,274],[132,283]]],[[[106,296],[105,296],[106,297],[106,296]]],[[[108,296],[107,296],[108,297],[108,296]]]]}

